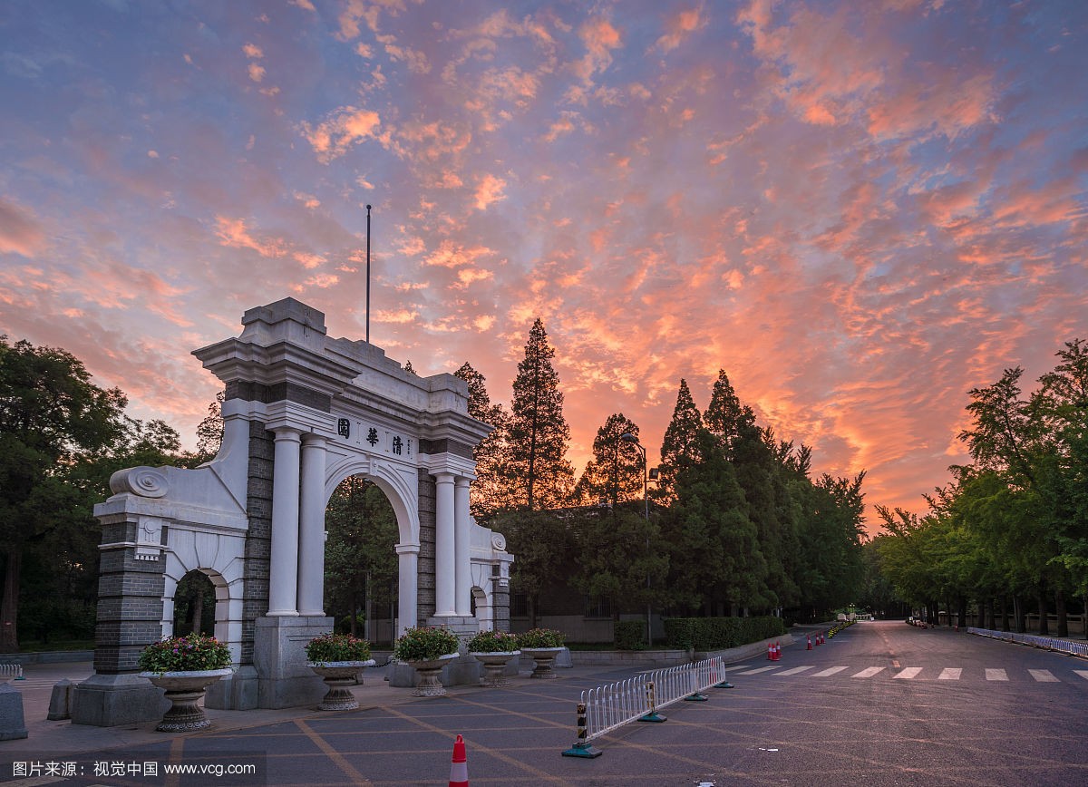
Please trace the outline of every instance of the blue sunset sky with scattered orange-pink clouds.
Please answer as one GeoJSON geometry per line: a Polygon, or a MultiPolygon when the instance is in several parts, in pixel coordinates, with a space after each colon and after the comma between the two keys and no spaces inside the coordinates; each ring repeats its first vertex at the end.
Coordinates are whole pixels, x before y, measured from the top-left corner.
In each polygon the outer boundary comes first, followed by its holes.
{"type": "MultiPolygon", "coordinates": [[[[195,445],[286,296],[493,401],[535,317],[580,471],[718,369],[924,511],[967,391],[1088,339],[1088,2],[3,0],[0,333],[195,445]]],[[[869,508],[871,516],[871,508],[869,508]]]]}

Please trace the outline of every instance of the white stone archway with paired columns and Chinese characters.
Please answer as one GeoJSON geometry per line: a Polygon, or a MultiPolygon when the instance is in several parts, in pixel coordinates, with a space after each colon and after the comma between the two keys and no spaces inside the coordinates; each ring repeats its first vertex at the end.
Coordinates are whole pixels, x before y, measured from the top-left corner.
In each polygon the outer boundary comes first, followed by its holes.
{"type": "Polygon", "coordinates": [[[165,632],[168,582],[194,569],[215,578],[217,634],[237,663],[209,691],[209,706],[320,697],[302,645],[332,626],[324,511],[353,475],[376,483],[397,517],[400,629],[508,628],[512,556],[469,515],[472,451],[490,427],[468,415],[463,381],[421,378],[367,342],[330,339],[324,315],[293,298],[250,309],[242,322],[239,336],[194,352],[226,386],[217,457],[195,470],[115,474],[114,495],[96,507],[96,674],[76,687],[76,723],[156,717],[158,690],[135,679],[135,660],[165,632]],[[487,620],[479,605],[470,615],[474,587],[487,620]]]}

